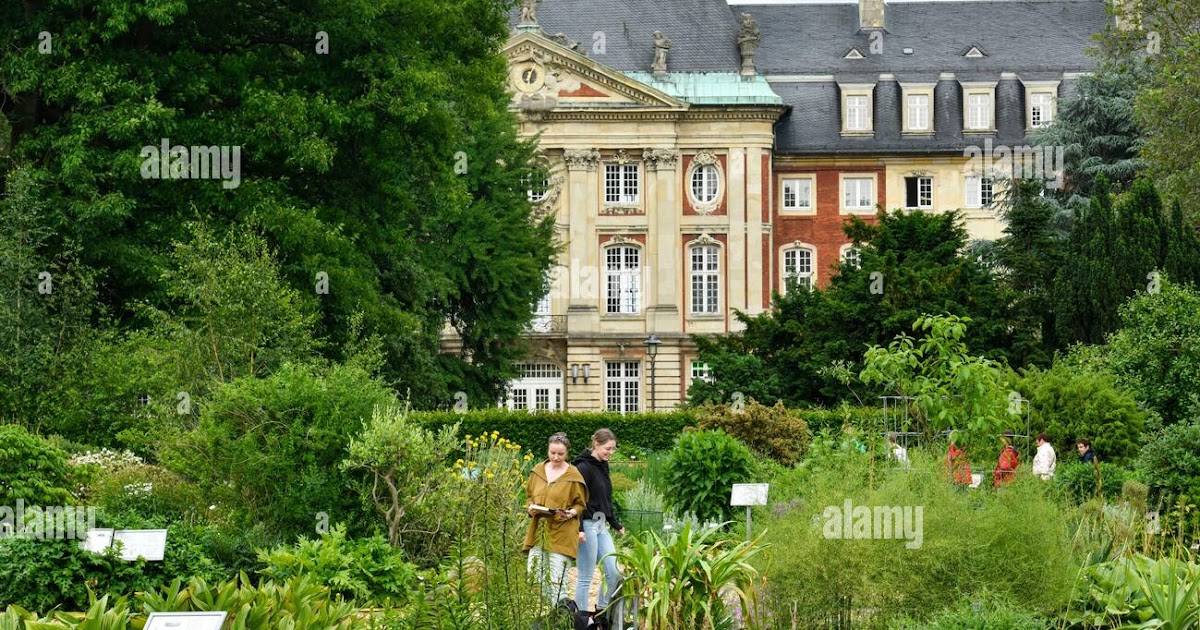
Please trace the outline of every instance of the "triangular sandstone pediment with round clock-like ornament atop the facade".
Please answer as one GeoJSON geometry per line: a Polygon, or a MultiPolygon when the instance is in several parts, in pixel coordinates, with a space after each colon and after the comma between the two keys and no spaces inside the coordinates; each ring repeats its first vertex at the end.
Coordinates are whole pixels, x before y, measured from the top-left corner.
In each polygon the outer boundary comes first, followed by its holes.
{"type": "Polygon", "coordinates": [[[606,67],[569,44],[534,31],[521,31],[509,40],[502,53],[509,60],[514,107],[532,114],[589,106],[608,110],[688,109],[683,101],[606,67]]]}

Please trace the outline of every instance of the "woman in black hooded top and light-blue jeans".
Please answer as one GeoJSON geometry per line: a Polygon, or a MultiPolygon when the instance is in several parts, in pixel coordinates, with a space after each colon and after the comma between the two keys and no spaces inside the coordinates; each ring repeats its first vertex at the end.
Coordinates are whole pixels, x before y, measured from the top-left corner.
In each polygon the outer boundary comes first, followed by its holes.
{"type": "MultiPolygon", "coordinates": [[[[583,509],[583,520],[580,522],[580,554],[575,559],[578,569],[578,578],[575,582],[575,605],[580,611],[589,611],[590,619],[601,628],[605,626],[602,612],[596,612],[608,607],[608,600],[614,595],[620,576],[617,574],[617,559],[613,558],[616,547],[612,542],[610,528],[617,529],[622,535],[625,528],[617,521],[617,515],[612,509],[612,479],[608,476],[608,460],[617,451],[617,436],[607,428],[601,428],[592,436],[592,448],[584,450],[574,463],[583,475],[583,481],[588,485],[588,504],[583,509]],[[604,576],[607,589],[600,589],[596,600],[595,612],[588,607],[588,590],[592,588],[592,577],[595,574],[596,564],[604,563],[604,576]]],[[[589,624],[590,625],[590,624],[589,624]]]]}

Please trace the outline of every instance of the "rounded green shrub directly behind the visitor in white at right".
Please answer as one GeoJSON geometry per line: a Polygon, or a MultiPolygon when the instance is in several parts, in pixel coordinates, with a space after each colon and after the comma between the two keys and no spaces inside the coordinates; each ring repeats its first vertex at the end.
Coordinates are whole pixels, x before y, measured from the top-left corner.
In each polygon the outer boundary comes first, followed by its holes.
{"type": "Polygon", "coordinates": [[[1016,390],[1033,409],[1033,434],[1045,432],[1060,460],[1073,456],[1080,438],[1088,438],[1105,462],[1124,463],[1136,455],[1146,414],[1112,374],[1060,361],[1050,370],[1026,370],[1016,390]]]}

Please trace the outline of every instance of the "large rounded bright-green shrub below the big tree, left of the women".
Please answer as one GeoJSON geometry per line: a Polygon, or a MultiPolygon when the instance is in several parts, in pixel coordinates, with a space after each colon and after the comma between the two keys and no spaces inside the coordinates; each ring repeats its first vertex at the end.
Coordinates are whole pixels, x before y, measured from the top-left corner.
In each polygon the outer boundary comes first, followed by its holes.
{"type": "Polygon", "coordinates": [[[162,458],[218,505],[236,506],[240,526],[276,540],[312,532],[317,512],[365,529],[370,514],[353,490],[362,479],[338,464],[379,404],[396,404],[395,395],[358,366],[289,364],[217,389],[199,426],[167,442],[162,458]]]}

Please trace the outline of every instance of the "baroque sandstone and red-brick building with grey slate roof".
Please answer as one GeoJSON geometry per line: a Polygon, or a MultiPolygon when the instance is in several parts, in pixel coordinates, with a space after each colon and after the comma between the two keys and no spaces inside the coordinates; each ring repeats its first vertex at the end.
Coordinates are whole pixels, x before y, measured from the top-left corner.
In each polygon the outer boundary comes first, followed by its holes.
{"type": "Polygon", "coordinates": [[[674,407],[707,373],[690,336],[853,264],[850,216],[959,210],[998,238],[992,181],[1061,172],[1028,137],[1108,19],[1104,0],[524,0],[503,54],[564,250],[503,404],[674,407]]]}

